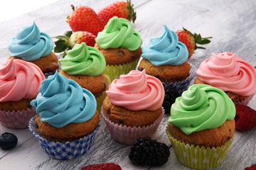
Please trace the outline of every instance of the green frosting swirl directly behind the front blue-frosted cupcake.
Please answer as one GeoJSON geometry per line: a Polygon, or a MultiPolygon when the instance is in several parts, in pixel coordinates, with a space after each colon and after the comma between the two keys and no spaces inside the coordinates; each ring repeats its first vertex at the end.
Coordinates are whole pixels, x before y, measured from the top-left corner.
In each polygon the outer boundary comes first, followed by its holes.
{"type": "Polygon", "coordinates": [[[61,69],[70,75],[97,76],[102,74],[106,67],[106,60],[95,47],[82,42],[68,50],[64,59],[58,60],[61,69]]]}

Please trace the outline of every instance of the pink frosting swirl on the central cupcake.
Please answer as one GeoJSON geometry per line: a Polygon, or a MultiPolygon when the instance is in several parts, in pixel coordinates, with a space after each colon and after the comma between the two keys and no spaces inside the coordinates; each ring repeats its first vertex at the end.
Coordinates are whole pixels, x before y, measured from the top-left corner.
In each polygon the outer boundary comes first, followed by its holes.
{"type": "Polygon", "coordinates": [[[164,86],[156,79],[142,72],[132,70],[114,79],[106,91],[115,106],[122,106],[130,111],[156,111],[164,101],[164,86]]]}

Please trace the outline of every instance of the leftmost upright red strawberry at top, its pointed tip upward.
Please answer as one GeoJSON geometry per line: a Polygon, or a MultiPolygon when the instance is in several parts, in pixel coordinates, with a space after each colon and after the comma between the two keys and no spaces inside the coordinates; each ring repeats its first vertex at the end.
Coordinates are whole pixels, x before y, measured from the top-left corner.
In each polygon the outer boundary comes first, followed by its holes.
{"type": "Polygon", "coordinates": [[[97,35],[103,30],[104,25],[102,19],[92,10],[89,6],[79,6],[73,8],[73,13],[68,16],[68,23],[73,32],[87,31],[94,35],[97,35]]]}

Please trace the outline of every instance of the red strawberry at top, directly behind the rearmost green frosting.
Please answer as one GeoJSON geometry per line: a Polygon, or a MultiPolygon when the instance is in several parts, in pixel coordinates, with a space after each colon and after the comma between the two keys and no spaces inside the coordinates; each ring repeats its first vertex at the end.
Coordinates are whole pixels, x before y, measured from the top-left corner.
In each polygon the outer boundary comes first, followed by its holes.
{"type": "Polygon", "coordinates": [[[102,18],[104,26],[106,26],[107,22],[113,16],[117,16],[118,18],[125,18],[129,21],[135,21],[136,12],[134,11],[133,4],[131,5],[131,1],[116,1],[112,4],[109,4],[105,8],[102,8],[97,14],[102,18]]]}

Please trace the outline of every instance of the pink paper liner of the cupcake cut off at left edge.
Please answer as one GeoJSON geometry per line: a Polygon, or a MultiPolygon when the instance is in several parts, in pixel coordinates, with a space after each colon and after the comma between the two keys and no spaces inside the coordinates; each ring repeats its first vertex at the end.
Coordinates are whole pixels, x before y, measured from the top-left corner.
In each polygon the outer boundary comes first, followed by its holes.
{"type": "Polygon", "coordinates": [[[0,111],[0,122],[6,128],[28,128],[28,122],[34,115],[36,109],[33,107],[22,111],[0,111]]]}

